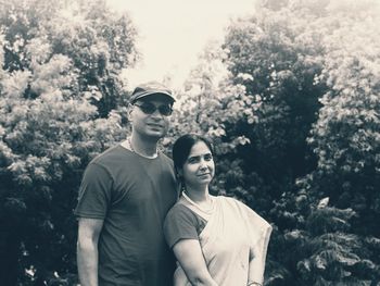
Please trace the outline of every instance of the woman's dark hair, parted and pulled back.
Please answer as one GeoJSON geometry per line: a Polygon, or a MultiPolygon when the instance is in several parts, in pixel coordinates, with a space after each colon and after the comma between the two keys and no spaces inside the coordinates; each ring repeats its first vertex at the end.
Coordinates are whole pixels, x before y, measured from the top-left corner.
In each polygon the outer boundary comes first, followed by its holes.
{"type": "Polygon", "coordinates": [[[208,147],[211,153],[214,153],[211,141],[197,134],[186,134],[175,141],[173,145],[173,161],[177,173],[179,169],[182,169],[190,154],[191,148],[199,141],[203,141],[208,147]]]}

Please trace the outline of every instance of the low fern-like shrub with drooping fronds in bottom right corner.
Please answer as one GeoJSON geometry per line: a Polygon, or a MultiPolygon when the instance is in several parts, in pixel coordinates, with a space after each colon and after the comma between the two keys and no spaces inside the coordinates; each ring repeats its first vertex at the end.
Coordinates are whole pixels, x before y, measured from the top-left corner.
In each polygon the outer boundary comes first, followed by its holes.
{"type": "Polygon", "coordinates": [[[300,285],[370,285],[379,279],[370,246],[352,233],[355,215],[352,209],[312,208],[303,231],[284,233],[282,249],[300,285]]]}

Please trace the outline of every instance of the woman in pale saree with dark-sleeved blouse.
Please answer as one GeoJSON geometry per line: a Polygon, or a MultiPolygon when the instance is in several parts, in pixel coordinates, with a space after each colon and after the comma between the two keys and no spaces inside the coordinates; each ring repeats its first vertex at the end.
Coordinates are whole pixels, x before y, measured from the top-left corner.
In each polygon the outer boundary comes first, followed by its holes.
{"type": "Polygon", "coordinates": [[[242,202],[210,195],[215,164],[205,138],[180,137],[173,160],[182,184],[164,223],[178,261],[174,285],[262,286],[271,226],[242,202]]]}

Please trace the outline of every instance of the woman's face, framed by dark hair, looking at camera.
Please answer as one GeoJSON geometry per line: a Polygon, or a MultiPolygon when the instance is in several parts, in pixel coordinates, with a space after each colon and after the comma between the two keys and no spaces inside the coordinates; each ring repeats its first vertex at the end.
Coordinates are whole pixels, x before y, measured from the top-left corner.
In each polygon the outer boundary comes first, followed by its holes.
{"type": "Polygon", "coordinates": [[[210,184],[215,174],[215,164],[213,154],[204,141],[193,145],[179,174],[188,187],[197,188],[210,184]]]}

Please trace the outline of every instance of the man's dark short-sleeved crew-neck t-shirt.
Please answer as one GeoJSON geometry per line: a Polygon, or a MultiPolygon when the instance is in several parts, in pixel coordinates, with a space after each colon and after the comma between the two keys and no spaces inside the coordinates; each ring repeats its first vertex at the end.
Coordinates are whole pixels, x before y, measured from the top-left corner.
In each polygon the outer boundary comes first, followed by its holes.
{"type": "Polygon", "coordinates": [[[90,162],[75,214],[104,220],[100,285],[172,285],[175,258],[163,221],[176,200],[173,161],[162,152],[147,159],[116,146],[90,162]]]}

